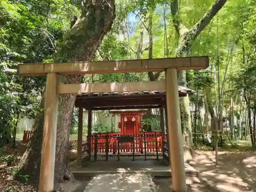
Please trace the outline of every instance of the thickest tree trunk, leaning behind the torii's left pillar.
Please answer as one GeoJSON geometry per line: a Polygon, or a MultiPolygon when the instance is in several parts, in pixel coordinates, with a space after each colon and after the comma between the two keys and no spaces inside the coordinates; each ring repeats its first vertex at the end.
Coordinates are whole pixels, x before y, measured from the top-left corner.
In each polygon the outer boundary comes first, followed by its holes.
{"type": "MultiPolygon", "coordinates": [[[[82,12],[56,55],[56,61],[91,60],[102,38],[111,29],[115,18],[114,0],[83,1],[82,12]]],[[[81,83],[83,75],[61,78],[65,83],[81,83]]],[[[55,185],[63,179],[74,180],[66,166],[69,145],[71,115],[76,94],[61,95],[58,105],[57,141],[55,155],[55,185]]],[[[44,108],[44,98],[40,106],[44,108]]],[[[38,183],[40,173],[44,112],[37,115],[27,151],[19,163],[19,174],[29,175],[29,181],[38,183]]]]}

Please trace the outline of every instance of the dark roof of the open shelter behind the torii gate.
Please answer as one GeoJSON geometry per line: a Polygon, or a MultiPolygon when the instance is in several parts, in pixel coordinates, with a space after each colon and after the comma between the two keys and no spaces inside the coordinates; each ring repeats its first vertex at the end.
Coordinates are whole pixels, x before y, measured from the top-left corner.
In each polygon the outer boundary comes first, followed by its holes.
{"type": "MultiPolygon", "coordinates": [[[[179,97],[195,93],[183,86],[184,83],[179,82],[179,97]]],[[[165,91],[78,94],[75,105],[88,110],[160,108],[165,105],[165,91]]]]}

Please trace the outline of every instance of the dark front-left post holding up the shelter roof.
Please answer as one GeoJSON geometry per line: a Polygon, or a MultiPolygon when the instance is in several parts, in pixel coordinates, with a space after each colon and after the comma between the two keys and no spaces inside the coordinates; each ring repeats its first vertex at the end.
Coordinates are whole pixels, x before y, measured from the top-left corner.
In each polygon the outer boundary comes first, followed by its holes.
{"type": "Polygon", "coordinates": [[[83,108],[78,108],[78,132],[77,132],[77,165],[82,166],[82,123],[83,108]]]}

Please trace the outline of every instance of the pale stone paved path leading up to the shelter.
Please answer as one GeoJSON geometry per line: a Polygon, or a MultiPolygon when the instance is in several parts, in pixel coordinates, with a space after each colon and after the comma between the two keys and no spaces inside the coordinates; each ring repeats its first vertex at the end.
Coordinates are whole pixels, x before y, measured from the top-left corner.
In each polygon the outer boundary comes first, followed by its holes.
{"type": "Polygon", "coordinates": [[[155,184],[150,175],[135,174],[104,174],[95,176],[83,192],[154,192],[155,184]]]}

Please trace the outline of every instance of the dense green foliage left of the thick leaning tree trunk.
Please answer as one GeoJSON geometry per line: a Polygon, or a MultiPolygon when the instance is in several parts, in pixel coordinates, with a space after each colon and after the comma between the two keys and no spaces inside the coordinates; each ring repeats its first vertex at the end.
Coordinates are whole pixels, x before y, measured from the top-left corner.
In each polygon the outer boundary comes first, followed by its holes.
{"type": "Polygon", "coordinates": [[[61,0],[0,1],[0,138],[10,140],[19,118],[44,113],[38,101],[46,78],[20,77],[17,64],[52,62],[78,13],[76,5],[61,0]]]}

